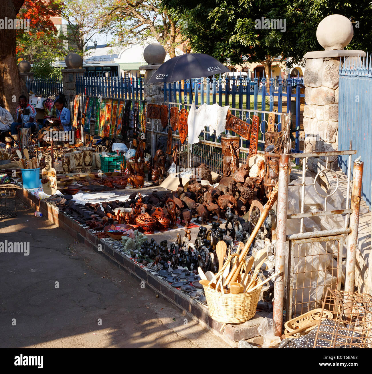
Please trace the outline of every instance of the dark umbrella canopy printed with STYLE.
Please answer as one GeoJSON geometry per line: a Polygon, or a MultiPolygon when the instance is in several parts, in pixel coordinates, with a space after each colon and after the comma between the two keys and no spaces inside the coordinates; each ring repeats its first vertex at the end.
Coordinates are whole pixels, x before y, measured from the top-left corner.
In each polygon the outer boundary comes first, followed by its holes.
{"type": "Polygon", "coordinates": [[[185,53],[164,62],[146,83],[170,83],[223,73],[230,73],[230,69],[212,56],[204,53],[185,53]]]}

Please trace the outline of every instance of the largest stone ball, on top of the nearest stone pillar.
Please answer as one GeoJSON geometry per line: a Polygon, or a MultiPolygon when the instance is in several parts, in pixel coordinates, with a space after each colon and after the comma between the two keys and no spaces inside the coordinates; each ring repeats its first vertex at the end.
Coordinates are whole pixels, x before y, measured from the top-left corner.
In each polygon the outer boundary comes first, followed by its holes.
{"type": "Polygon", "coordinates": [[[353,25],[341,14],[331,14],[319,22],[316,38],[325,50],[344,49],[353,39],[353,25]]]}

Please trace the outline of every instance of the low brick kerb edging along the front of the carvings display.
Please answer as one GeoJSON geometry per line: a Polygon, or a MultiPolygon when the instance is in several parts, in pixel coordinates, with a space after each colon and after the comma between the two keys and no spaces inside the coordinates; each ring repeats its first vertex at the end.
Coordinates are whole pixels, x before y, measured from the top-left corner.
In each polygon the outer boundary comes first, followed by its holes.
{"type": "Polygon", "coordinates": [[[38,200],[25,189],[17,190],[16,194],[22,202],[30,205],[36,211],[40,211],[49,221],[61,227],[61,229],[79,240],[79,242],[91,246],[98,254],[119,267],[120,270],[129,273],[135,279],[138,279],[138,281],[145,281],[146,285],[159,294],[159,296],[170,301],[191,319],[200,323],[204,328],[211,330],[231,346],[237,346],[237,341],[239,340],[252,339],[258,336],[258,326],[262,321],[261,316],[256,314],[255,318],[245,322],[245,324],[228,324],[224,327],[221,334],[219,330],[222,324],[210,317],[206,306],[185,295],[184,292],[173,288],[169,283],[159,279],[158,276],[142,269],[126,257],[126,255],[111,248],[104,240],[93,235],[92,232],[86,230],[72,218],[68,217],[68,215],[64,214],[64,212],[59,212],[53,205],[47,204],[43,200],[38,200]],[[98,250],[99,244],[102,247],[101,250],[98,250]]]}

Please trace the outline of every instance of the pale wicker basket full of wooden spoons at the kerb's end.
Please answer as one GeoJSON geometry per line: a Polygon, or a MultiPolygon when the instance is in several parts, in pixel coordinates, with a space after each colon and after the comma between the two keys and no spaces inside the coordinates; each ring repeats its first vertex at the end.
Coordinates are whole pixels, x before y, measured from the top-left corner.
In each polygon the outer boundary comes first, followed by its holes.
{"type": "MultiPolygon", "coordinates": [[[[239,275],[237,282],[240,277],[239,275]]],[[[248,278],[250,277],[248,276],[248,278]]],[[[250,279],[248,279],[248,283],[249,281],[250,279]]],[[[256,286],[259,281],[254,281],[253,286],[256,286]]],[[[252,292],[242,294],[222,294],[222,292],[216,292],[206,286],[203,288],[210,316],[215,321],[225,324],[239,324],[248,321],[255,315],[262,286],[252,292]]]]}

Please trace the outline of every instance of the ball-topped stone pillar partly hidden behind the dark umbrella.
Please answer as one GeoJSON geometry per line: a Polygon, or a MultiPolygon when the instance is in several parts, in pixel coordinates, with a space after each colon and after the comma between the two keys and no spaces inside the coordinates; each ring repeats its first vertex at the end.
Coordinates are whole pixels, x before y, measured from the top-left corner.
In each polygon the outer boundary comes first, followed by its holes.
{"type": "Polygon", "coordinates": [[[162,93],[163,83],[148,84],[147,81],[155,73],[155,71],[164,62],[166,52],[162,45],[153,43],[149,44],[143,53],[144,59],[148,65],[139,67],[139,70],[146,70],[144,81],[144,96],[147,103],[164,101],[164,94],[162,93]]]}

